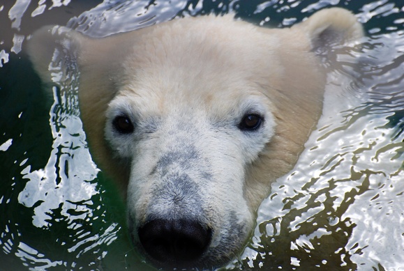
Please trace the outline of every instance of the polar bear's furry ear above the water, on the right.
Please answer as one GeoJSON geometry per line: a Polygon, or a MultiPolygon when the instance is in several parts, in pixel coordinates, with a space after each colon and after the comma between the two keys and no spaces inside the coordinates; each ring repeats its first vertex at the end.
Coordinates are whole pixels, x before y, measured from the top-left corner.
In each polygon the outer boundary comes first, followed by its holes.
{"type": "Polygon", "coordinates": [[[327,52],[332,47],[352,45],[364,36],[357,18],[343,8],[320,10],[293,28],[306,33],[313,52],[317,54],[327,52]]]}

